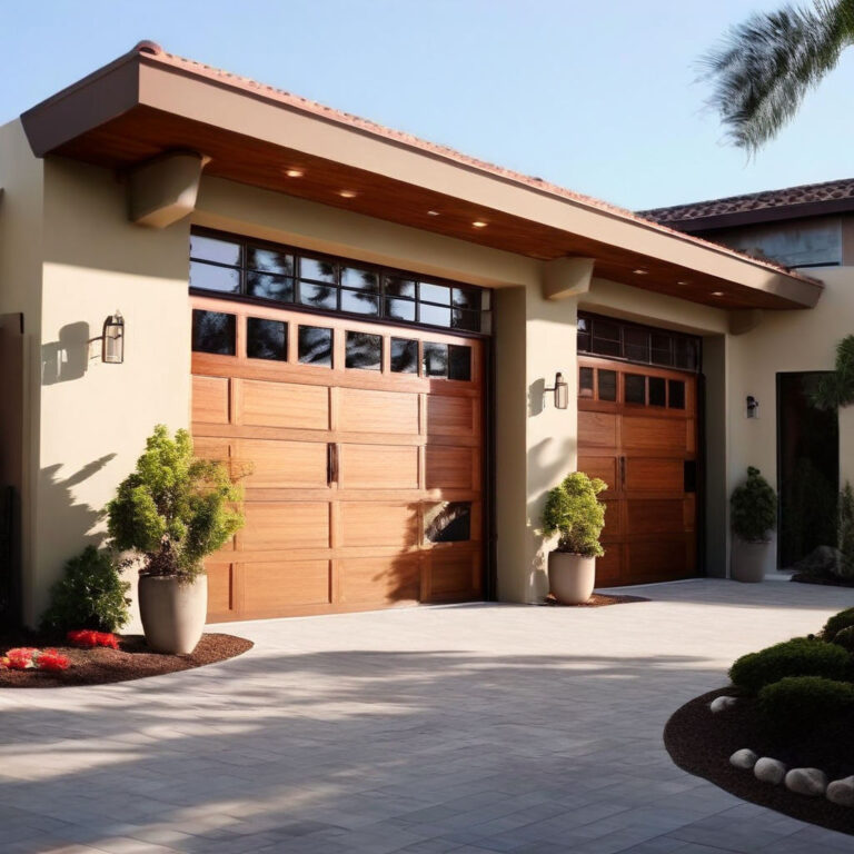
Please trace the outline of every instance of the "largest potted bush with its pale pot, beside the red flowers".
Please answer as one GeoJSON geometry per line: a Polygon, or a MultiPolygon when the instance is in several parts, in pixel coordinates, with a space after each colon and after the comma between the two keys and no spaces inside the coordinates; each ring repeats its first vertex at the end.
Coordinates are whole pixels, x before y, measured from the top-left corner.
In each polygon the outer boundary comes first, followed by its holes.
{"type": "Polygon", "coordinates": [[[197,459],[187,430],[170,438],[158,425],[107,505],[115,546],[142,557],[139,610],[152,649],[187,655],[196,648],[208,604],[202,562],[242,526],[241,499],[224,463],[197,459]]]}

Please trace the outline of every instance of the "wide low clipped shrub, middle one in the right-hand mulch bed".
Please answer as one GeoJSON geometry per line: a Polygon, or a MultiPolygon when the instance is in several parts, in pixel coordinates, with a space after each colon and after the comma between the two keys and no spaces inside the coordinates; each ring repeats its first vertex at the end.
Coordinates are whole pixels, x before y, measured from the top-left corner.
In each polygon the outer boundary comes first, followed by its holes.
{"type": "Polygon", "coordinates": [[[794,637],[758,653],[743,655],[729,668],[734,685],[757,694],[786,676],[824,676],[845,679],[851,656],[841,646],[817,638],[794,637]]]}

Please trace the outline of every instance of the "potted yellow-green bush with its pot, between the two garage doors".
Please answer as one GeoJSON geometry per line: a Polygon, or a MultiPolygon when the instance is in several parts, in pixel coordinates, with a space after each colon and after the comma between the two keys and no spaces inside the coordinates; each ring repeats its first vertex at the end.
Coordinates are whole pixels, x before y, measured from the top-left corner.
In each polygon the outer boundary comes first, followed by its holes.
{"type": "Polygon", "coordinates": [[[596,558],[605,554],[599,544],[605,505],[596,496],[607,488],[598,477],[574,471],[546,498],[543,533],[558,535],[557,548],[548,555],[548,584],[564,605],[587,602],[596,584],[596,558]]]}

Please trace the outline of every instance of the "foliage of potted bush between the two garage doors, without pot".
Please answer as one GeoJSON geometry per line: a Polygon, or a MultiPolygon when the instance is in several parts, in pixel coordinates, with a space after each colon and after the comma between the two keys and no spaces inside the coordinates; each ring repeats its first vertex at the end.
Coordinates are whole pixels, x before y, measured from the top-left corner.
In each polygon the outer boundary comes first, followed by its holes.
{"type": "Polygon", "coordinates": [[[560,535],[558,552],[584,557],[605,554],[599,544],[605,527],[605,505],[596,496],[607,488],[598,477],[574,471],[549,491],[543,510],[543,533],[560,535]]]}

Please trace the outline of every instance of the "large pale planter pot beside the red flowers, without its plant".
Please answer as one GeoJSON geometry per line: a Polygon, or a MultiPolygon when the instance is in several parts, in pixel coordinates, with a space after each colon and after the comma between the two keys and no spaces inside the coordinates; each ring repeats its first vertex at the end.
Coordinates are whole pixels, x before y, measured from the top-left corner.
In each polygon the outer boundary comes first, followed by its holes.
{"type": "Polygon", "coordinates": [[[208,576],[139,578],[139,615],[146,643],[156,653],[189,655],[201,638],[208,612],[208,576]]]}

